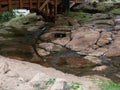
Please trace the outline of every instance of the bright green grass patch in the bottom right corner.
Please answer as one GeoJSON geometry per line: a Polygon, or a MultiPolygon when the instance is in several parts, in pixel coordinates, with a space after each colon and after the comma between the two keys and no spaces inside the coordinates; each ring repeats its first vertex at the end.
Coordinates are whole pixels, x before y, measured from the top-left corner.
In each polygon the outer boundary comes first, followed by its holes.
{"type": "Polygon", "coordinates": [[[102,90],[120,90],[120,83],[116,84],[113,81],[109,81],[108,84],[101,84],[102,90]]]}

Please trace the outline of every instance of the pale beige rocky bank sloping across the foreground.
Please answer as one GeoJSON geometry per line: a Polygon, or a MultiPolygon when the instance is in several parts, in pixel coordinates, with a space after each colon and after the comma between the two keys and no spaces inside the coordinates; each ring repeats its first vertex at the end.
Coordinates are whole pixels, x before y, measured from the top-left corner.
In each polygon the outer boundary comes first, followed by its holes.
{"type": "Polygon", "coordinates": [[[73,90],[66,88],[72,82],[78,83],[77,90],[101,90],[99,80],[108,79],[96,75],[76,77],[53,68],[0,56],[0,90],[73,90]]]}

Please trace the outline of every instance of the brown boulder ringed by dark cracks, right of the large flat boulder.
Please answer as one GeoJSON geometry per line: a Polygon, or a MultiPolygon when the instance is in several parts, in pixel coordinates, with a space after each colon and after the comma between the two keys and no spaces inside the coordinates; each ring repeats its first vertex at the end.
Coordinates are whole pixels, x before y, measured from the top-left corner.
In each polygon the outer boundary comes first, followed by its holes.
{"type": "Polygon", "coordinates": [[[101,37],[97,41],[97,45],[102,47],[106,44],[109,44],[112,41],[112,33],[111,32],[102,32],[101,37]]]}

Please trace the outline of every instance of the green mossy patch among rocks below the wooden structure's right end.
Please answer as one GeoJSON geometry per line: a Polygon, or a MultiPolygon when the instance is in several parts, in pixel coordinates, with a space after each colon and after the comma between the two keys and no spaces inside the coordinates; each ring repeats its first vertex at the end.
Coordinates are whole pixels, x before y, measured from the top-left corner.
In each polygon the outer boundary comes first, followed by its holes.
{"type": "Polygon", "coordinates": [[[92,15],[88,13],[84,13],[82,11],[79,12],[69,12],[69,16],[77,19],[79,21],[88,21],[91,19],[92,15]]]}

